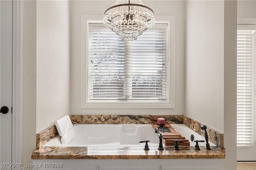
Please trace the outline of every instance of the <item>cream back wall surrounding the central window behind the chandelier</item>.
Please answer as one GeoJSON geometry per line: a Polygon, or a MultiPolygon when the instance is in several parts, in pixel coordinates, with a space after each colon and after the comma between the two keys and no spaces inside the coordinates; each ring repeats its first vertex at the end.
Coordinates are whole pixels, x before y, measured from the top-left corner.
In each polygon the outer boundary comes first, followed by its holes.
{"type": "Polygon", "coordinates": [[[184,114],[185,1],[144,1],[155,15],[175,17],[174,109],[82,109],[81,108],[81,16],[101,15],[115,1],[71,1],[71,114],[184,114]],[[100,5],[99,5],[100,4],[100,5]]]}

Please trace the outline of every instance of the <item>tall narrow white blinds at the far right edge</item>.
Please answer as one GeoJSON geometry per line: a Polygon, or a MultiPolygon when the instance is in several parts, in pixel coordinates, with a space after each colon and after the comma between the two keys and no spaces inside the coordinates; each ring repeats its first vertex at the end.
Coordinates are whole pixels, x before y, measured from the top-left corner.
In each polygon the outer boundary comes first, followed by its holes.
{"type": "Polygon", "coordinates": [[[237,31],[236,143],[252,145],[252,31],[237,31]]]}

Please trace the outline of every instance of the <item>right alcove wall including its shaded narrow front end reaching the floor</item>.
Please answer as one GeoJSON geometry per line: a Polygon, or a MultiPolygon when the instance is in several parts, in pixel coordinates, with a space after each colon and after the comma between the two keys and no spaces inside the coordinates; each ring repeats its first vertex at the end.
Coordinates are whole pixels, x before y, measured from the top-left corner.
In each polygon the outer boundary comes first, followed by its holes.
{"type": "Polygon", "coordinates": [[[224,133],[236,169],[236,1],[186,3],[186,115],[224,133]]]}

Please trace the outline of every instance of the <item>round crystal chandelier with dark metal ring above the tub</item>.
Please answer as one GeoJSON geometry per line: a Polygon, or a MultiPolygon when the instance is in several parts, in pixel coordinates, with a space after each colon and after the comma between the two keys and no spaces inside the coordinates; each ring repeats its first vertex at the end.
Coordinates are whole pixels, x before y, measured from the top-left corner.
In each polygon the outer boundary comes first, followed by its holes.
{"type": "Polygon", "coordinates": [[[117,0],[104,13],[103,24],[122,37],[133,41],[155,24],[154,12],[141,0],[117,0]]]}

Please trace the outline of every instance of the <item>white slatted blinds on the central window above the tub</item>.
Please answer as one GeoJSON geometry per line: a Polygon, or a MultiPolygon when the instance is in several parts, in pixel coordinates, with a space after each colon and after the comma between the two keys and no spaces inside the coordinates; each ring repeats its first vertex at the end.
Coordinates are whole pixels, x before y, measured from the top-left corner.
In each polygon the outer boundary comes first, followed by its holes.
{"type": "Polygon", "coordinates": [[[167,24],[136,41],[89,24],[89,100],[166,100],[167,24]]]}

